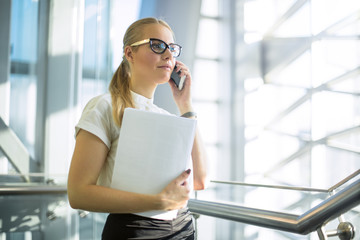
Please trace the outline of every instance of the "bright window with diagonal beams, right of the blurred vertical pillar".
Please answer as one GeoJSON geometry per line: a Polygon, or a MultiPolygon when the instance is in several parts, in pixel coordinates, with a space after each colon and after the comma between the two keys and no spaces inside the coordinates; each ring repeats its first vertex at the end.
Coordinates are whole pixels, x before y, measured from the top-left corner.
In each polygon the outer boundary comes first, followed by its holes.
{"type": "MultiPolygon", "coordinates": [[[[245,92],[245,181],[328,189],[360,168],[360,3],[237,3],[244,13],[237,46],[248,50],[240,62],[252,66],[237,66],[245,92]]],[[[264,203],[264,190],[254,189],[245,204],[303,213],[316,201],[266,196],[264,203]]],[[[246,226],[242,237],[255,231],[259,238],[266,232],[246,226]]],[[[266,239],[290,239],[272,235],[266,239]]]]}

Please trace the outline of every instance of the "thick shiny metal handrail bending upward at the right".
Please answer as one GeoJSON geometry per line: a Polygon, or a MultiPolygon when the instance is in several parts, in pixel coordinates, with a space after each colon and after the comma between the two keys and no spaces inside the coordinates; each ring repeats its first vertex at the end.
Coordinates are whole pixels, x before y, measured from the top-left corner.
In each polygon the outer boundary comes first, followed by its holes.
{"type": "Polygon", "coordinates": [[[360,179],[302,215],[190,199],[191,212],[286,232],[308,234],[360,204],[360,179]]]}

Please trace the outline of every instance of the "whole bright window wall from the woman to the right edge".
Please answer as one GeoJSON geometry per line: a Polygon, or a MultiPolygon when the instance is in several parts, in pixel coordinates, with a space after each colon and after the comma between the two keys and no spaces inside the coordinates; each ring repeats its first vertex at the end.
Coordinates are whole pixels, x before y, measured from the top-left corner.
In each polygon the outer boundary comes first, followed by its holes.
{"type": "MultiPolygon", "coordinates": [[[[206,119],[201,126],[212,179],[328,189],[360,169],[359,10],[356,0],[202,1],[194,102],[203,109],[199,122],[206,119]],[[232,13],[234,21],[226,21],[232,13]],[[227,27],[231,34],[224,34],[227,27]],[[222,54],[228,48],[232,59],[222,54]],[[226,61],[235,67],[226,71],[226,61]]],[[[326,197],[211,187],[214,191],[198,198],[293,213],[326,197]]],[[[201,239],[294,238],[204,216],[199,234],[201,239]]]]}

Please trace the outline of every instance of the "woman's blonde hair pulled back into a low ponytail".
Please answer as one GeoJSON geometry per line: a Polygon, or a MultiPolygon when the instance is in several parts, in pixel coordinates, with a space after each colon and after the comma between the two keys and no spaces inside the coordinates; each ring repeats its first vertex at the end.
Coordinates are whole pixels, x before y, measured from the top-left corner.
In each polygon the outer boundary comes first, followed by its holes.
{"type": "MultiPolygon", "coordinates": [[[[149,24],[161,24],[173,33],[170,26],[164,20],[157,18],[143,18],[137,20],[131,24],[125,32],[123,39],[123,52],[125,52],[125,47],[142,40],[143,28],[149,24]]],[[[109,85],[113,108],[112,115],[116,125],[118,126],[121,126],[125,108],[135,107],[130,91],[130,80],[130,64],[124,55],[123,60],[118,69],[115,71],[109,85]]]]}

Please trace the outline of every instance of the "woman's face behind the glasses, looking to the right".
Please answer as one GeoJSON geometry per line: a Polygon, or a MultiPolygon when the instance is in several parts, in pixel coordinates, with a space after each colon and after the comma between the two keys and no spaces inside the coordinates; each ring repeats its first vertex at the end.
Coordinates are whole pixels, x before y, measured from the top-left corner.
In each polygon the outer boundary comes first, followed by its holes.
{"type": "MultiPolygon", "coordinates": [[[[165,43],[174,43],[172,32],[161,24],[149,24],[143,28],[142,39],[157,38],[165,43]]],[[[162,54],[154,53],[150,43],[143,44],[133,51],[131,78],[142,86],[156,86],[170,79],[175,66],[175,58],[169,49],[162,54]]]]}

